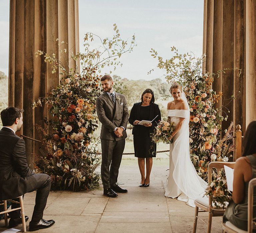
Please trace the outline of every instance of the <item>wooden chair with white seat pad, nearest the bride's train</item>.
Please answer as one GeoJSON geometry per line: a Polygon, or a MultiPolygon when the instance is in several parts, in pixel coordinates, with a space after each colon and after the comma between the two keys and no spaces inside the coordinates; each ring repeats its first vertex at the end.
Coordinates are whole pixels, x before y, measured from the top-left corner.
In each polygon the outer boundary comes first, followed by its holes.
{"type": "MultiPolygon", "coordinates": [[[[219,176],[219,171],[224,168],[224,165],[234,168],[235,162],[210,162],[208,164],[208,183],[212,181],[212,168],[216,168],[217,175],[219,176]]],[[[208,215],[208,227],[207,233],[211,232],[211,225],[212,225],[212,217],[215,216],[223,216],[225,209],[217,208],[212,205],[212,197],[201,197],[195,200],[195,218],[194,218],[194,226],[193,226],[193,233],[196,232],[196,225],[198,219],[198,212],[209,212],[208,215]],[[202,210],[198,210],[198,209],[202,210]]]]}

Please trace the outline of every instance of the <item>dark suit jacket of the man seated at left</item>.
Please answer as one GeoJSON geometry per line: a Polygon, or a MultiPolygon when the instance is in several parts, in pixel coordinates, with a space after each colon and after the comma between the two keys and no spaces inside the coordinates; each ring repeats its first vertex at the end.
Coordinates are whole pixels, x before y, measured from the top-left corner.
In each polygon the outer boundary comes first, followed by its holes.
{"type": "Polygon", "coordinates": [[[0,130],[0,200],[16,198],[36,183],[28,167],[25,141],[11,129],[0,130]]]}

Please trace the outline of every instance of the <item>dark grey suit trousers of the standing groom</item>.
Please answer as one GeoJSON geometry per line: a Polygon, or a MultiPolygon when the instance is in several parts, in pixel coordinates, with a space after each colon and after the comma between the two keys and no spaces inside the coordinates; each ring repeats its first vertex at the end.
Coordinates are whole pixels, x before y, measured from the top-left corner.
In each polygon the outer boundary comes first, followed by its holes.
{"type": "Polygon", "coordinates": [[[124,146],[125,139],[119,141],[101,139],[101,179],[104,189],[116,185],[124,146]]]}

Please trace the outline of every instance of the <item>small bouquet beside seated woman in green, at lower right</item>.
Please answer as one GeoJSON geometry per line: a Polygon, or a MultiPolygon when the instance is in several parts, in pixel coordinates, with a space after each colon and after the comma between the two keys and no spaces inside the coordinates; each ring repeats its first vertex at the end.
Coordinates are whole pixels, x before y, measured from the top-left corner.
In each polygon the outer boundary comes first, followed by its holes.
{"type": "Polygon", "coordinates": [[[231,192],[228,190],[226,177],[218,177],[208,184],[205,195],[212,197],[212,201],[216,207],[222,207],[224,209],[232,197],[231,192]]]}

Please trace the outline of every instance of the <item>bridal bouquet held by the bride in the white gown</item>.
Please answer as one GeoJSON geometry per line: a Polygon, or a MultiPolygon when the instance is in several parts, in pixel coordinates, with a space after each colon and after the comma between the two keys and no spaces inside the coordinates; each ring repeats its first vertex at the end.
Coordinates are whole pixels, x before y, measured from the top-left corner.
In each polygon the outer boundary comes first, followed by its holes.
{"type": "Polygon", "coordinates": [[[153,133],[151,133],[151,139],[155,143],[162,141],[165,144],[172,143],[172,139],[169,137],[173,132],[173,123],[169,123],[166,120],[161,120],[155,127],[153,133]]]}

